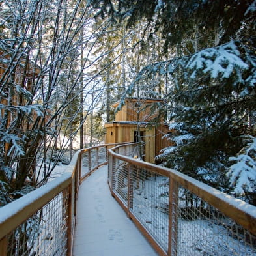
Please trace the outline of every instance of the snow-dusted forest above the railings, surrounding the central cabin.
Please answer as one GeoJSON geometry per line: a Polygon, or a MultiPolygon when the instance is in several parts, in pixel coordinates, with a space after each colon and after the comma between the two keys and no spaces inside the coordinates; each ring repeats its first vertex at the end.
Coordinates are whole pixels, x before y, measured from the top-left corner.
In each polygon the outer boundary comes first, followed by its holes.
{"type": "Polygon", "coordinates": [[[255,11],[253,0],[1,1],[0,205],[45,184],[77,135],[80,148],[85,134],[102,140],[127,96],[164,102],[150,125],[164,118],[174,145],[158,162],[256,205],[255,11]]]}

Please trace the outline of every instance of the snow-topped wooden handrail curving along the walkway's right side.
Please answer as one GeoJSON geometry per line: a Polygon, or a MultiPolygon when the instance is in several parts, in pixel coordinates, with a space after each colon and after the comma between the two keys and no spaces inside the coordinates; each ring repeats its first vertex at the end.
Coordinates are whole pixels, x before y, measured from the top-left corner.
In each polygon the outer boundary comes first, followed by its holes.
{"type": "Polygon", "coordinates": [[[207,203],[214,206],[220,210],[223,214],[232,218],[236,223],[242,225],[244,228],[248,229],[253,235],[256,235],[256,207],[249,205],[248,203],[237,199],[231,195],[220,192],[215,188],[212,188],[195,178],[188,177],[183,173],[169,169],[166,167],[161,167],[159,165],[150,164],[148,162],[143,162],[128,156],[122,156],[121,154],[115,153],[115,149],[118,149],[121,146],[113,147],[109,149],[109,154],[128,162],[129,164],[136,165],[138,167],[143,167],[149,169],[150,171],[164,175],[165,177],[172,178],[178,184],[181,184],[184,188],[190,190],[195,195],[204,199],[207,203]]]}

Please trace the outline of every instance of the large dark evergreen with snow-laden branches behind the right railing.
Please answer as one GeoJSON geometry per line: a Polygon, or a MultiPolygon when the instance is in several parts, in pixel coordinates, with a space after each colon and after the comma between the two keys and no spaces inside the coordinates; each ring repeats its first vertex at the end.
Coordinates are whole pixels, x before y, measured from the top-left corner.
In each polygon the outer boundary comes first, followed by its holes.
{"type": "Polygon", "coordinates": [[[145,66],[128,89],[168,77],[167,136],[175,145],[159,158],[255,204],[255,1],[118,1],[116,9],[107,3],[102,12],[128,16],[130,26],[146,18],[165,53],[176,50],[168,61],[145,66]]]}

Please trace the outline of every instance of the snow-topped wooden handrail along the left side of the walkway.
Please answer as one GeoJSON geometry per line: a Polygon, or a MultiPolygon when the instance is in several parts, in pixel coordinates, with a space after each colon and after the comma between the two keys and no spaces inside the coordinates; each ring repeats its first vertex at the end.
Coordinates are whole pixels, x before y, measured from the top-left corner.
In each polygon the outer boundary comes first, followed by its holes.
{"type": "MultiPolygon", "coordinates": [[[[8,205],[5,205],[2,208],[0,208],[0,252],[1,250],[5,251],[5,253],[0,254],[6,254],[5,247],[7,246],[7,235],[10,234],[10,232],[14,231],[14,229],[16,229],[28,218],[33,216],[33,214],[40,210],[44,205],[49,203],[56,195],[63,192],[66,188],[68,188],[69,192],[78,192],[79,184],[82,178],[81,154],[83,154],[83,152],[88,152],[93,149],[99,149],[100,147],[107,148],[122,144],[123,143],[111,143],[78,150],[78,152],[74,154],[70,164],[66,167],[65,173],[61,177],[56,178],[55,180],[49,182],[48,184],[40,188],[37,188],[33,192],[30,192],[27,195],[20,197],[16,201],[13,201],[12,203],[9,203],[8,205]],[[76,173],[76,170],[78,171],[78,173],[76,173]],[[77,188],[75,188],[74,190],[71,189],[72,184],[74,184],[74,186],[77,188]]],[[[91,172],[97,169],[102,164],[107,164],[107,161],[94,167],[94,169],[92,169],[91,172]]],[[[75,200],[75,195],[70,196],[73,200],[75,200]]],[[[76,206],[75,203],[74,206],[76,206]]],[[[70,210],[70,212],[75,212],[75,210],[76,209],[70,210]]],[[[74,216],[70,216],[70,218],[74,218],[74,216]]],[[[68,220],[68,223],[72,223],[72,221],[68,220]]],[[[68,229],[70,229],[70,232],[72,233],[72,227],[68,227],[68,229]]],[[[70,240],[70,238],[68,239],[70,240]]],[[[71,241],[68,242],[68,244],[69,246],[72,246],[72,238],[71,241]]],[[[71,255],[72,248],[67,248],[67,250],[71,255]]]]}

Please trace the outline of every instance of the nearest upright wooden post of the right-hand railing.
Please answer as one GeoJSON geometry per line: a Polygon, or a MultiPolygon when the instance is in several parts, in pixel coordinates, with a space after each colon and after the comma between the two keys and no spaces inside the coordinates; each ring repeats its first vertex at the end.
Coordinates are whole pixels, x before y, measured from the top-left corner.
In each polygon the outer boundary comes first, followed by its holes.
{"type": "Polygon", "coordinates": [[[177,220],[178,187],[173,178],[169,177],[169,246],[168,256],[178,253],[178,220],[177,220]]]}

